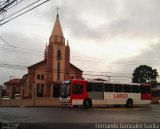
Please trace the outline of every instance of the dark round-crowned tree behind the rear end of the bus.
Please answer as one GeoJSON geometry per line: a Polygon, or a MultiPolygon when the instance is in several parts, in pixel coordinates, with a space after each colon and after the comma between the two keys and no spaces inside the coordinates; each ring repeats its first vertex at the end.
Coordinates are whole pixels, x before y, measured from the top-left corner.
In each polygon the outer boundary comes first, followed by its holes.
{"type": "Polygon", "coordinates": [[[133,83],[152,83],[157,84],[158,72],[156,69],[147,65],[140,65],[133,72],[133,83]]]}

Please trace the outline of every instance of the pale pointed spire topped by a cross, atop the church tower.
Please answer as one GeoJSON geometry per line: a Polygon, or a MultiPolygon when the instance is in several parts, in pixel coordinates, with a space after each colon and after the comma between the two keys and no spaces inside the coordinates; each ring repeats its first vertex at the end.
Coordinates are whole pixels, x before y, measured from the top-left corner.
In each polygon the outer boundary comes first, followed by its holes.
{"type": "Polygon", "coordinates": [[[59,8],[57,8],[57,17],[56,17],[56,21],[55,21],[51,36],[50,36],[50,42],[64,43],[64,36],[63,36],[62,27],[59,20],[58,9],[59,8]]]}

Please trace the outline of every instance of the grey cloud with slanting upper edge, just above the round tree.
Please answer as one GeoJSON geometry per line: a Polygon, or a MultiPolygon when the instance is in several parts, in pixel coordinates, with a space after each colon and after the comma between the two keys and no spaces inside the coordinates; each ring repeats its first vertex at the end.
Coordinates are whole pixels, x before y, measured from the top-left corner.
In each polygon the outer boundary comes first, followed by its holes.
{"type": "Polygon", "coordinates": [[[116,65],[117,72],[127,72],[132,75],[133,71],[136,67],[140,65],[148,65],[151,66],[153,69],[157,69],[160,73],[160,42],[157,44],[150,45],[149,49],[145,49],[142,51],[141,54],[128,58],[128,59],[121,59],[111,63],[111,65],[116,65]]]}

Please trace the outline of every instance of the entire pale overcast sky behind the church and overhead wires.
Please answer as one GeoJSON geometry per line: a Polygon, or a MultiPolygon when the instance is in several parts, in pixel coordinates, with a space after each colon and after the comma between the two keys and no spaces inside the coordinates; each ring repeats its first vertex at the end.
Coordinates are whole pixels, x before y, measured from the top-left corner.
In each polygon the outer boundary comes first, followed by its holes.
{"type": "Polygon", "coordinates": [[[160,72],[159,0],[50,0],[0,26],[0,36],[17,47],[0,40],[0,84],[10,76],[22,78],[24,67],[43,60],[57,5],[71,63],[86,79],[131,82],[139,65],[160,72]]]}

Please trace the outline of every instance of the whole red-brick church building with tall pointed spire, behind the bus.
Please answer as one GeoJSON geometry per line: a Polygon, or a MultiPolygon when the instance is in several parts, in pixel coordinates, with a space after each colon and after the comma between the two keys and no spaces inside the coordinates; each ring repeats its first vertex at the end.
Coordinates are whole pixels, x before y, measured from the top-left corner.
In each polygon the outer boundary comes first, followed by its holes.
{"type": "Polygon", "coordinates": [[[70,63],[69,43],[61,28],[59,15],[46,45],[44,60],[28,67],[23,76],[21,93],[23,98],[58,97],[60,84],[67,79],[82,79],[83,71],[70,63]]]}

